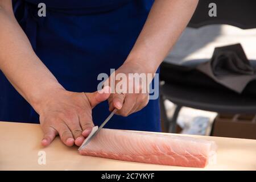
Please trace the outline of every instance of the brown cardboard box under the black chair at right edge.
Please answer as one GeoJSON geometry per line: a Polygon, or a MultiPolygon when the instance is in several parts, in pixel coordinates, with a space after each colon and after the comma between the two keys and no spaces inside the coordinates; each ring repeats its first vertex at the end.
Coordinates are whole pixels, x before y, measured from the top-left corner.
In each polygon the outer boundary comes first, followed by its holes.
{"type": "Polygon", "coordinates": [[[256,114],[218,114],[212,136],[256,139],[256,114]]]}

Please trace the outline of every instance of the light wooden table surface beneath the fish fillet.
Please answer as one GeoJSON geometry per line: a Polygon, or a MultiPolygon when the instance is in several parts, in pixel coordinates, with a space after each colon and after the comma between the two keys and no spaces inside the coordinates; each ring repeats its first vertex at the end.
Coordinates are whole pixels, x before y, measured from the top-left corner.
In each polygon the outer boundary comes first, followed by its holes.
{"type": "Polygon", "coordinates": [[[59,137],[44,148],[42,135],[40,125],[0,122],[0,170],[256,170],[256,140],[250,139],[191,135],[217,143],[217,164],[187,168],[81,156],[78,147],[64,146],[59,137]],[[45,165],[38,163],[40,151],[45,165]]]}

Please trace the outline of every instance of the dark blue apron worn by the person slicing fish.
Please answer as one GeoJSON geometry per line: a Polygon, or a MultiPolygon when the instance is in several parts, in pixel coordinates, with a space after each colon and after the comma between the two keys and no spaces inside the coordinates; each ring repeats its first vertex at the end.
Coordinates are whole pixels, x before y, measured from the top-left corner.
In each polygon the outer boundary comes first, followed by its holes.
{"type": "MultiPolygon", "coordinates": [[[[94,92],[99,73],[110,74],[125,61],[148,12],[151,0],[13,1],[16,19],[36,55],[65,89],[94,92]],[[38,3],[46,17],[38,16],[38,3]]],[[[39,123],[39,115],[0,73],[0,121],[39,123]]],[[[160,131],[159,100],[150,100],[129,117],[114,115],[112,129],[160,131]]],[[[108,102],[93,109],[93,122],[108,116],[108,102]]]]}

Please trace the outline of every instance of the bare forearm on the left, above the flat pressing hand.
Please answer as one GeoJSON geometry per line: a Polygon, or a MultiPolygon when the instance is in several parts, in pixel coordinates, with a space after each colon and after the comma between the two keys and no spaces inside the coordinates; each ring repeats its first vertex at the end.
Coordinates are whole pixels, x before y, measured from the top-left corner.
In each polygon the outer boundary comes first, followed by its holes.
{"type": "Polygon", "coordinates": [[[0,69],[16,90],[38,110],[50,92],[63,87],[40,61],[10,10],[0,6],[0,69]]]}

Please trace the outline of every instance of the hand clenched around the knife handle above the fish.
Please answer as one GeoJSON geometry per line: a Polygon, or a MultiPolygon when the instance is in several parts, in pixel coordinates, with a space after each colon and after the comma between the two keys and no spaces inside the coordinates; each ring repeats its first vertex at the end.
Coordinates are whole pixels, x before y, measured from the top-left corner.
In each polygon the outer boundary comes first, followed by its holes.
{"type": "MultiPolygon", "coordinates": [[[[131,81],[129,79],[129,73],[145,73],[147,75],[148,71],[145,69],[145,66],[142,66],[138,63],[124,63],[121,67],[115,71],[115,76],[117,76],[118,73],[123,73],[127,77],[127,83],[131,84],[131,81]]],[[[147,80],[147,82],[151,82],[152,80],[147,80]]],[[[117,86],[117,83],[119,81],[115,81],[115,86],[117,86]]],[[[134,82],[134,81],[133,81],[134,82]]],[[[128,93],[128,87],[126,86],[126,93],[117,93],[115,90],[115,93],[110,94],[110,97],[108,99],[109,101],[109,110],[112,111],[114,108],[117,108],[118,111],[116,114],[122,115],[124,117],[127,117],[128,115],[135,113],[143,107],[145,107],[148,104],[148,98],[149,94],[148,92],[143,92],[143,89],[146,89],[148,91],[148,84],[146,84],[147,88],[143,88],[145,84],[142,84],[140,81],[139,84],[134,85],[133,84],[133,93],[128,93]],[[134,90],[138,89],[139,93],[134,93],[134,90]]]]}

